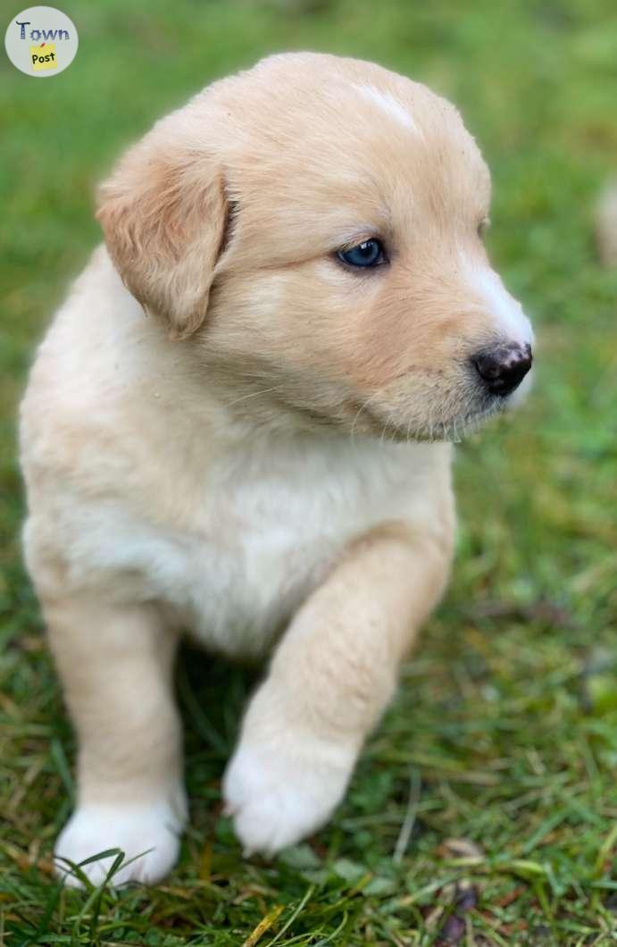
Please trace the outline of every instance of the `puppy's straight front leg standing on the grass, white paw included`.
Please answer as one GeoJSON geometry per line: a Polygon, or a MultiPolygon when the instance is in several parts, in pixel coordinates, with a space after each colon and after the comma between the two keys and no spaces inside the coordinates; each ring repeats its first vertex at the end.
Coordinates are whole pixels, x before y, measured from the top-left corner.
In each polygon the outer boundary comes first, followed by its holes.
{"type": "MultiPolygon", "coordinates": [[[[119,848],[114,884],[158,881],[185,821],[181,737],[172,697],[176,635],[153,606],[93,597],[44,599],[44,617],[79,738],[78,806],[55,855],[72,862],[119,848]],[[147,852],[144,854],[144,852],[147,852]]],[[[82,870],[96,883],[110,862],[82,870]]],[[[66,867],[57,862],[63,873],[66,867]]],[[[67,876],[68,884],[79,884],[67,876]]]]}

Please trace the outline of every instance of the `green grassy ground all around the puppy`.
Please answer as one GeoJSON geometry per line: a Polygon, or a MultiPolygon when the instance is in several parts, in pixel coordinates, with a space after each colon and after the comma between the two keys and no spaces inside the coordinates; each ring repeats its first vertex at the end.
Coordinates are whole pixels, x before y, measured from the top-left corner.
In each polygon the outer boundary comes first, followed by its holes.
{"type": "Polygon", "coordinates": [[[0,56],[0,944],[617,942],[617,277],[591,236],[617,170],[614,0],[62,9],[80,32],[62,76],[0,56]],[[242,860],[219,780],[252,681],[185,653],[180,866],[152,890],[64,891],[49,856],[74,741],[20,564],[13,406],[98,239],[92,187],[119,148],[207,80],[303,47],[461,105],[494,171],[493,255],[538,328],[536,391],[458,452],[450,593],[332,824],[272,864],[242,860]]]}

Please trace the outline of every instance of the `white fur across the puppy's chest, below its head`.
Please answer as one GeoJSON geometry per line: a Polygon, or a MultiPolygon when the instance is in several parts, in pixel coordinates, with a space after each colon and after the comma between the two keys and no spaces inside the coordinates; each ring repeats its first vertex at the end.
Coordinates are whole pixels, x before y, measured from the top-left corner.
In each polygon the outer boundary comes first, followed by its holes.
{"type": "Polygon", "coordinates": [[[182,527],[114,500],[84,529],[72,498],[74,579],[165,602],[206,647],[259,654],[350,539],[401,518],[438,531],[449,467],[444,444],[260,442],[220,456],[182,527]]]}

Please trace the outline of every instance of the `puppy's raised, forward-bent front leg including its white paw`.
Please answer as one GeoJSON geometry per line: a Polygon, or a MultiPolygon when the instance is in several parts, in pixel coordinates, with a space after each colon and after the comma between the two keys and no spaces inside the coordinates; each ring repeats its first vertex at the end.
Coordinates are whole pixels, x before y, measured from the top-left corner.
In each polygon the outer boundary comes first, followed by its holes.
{"type": "Polygon", "coordinates": [[[380,527],[295,616],[224,778],[247,852],[273,853],[326,822],[449,564],[450,531],[413,538],[406,527],[380,527]]]}

